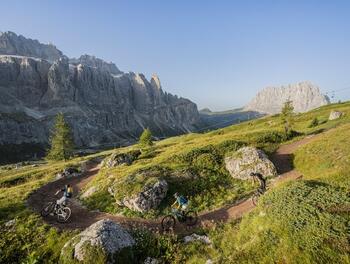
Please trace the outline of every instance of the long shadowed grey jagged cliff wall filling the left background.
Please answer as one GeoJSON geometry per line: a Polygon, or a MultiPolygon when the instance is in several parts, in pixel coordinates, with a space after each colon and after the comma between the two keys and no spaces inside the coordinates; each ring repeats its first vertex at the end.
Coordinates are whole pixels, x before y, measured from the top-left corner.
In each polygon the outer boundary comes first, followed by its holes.
{"type": "Polygon", "coordinates": [[[76,144],[86,147],[127,144],[146,127],[164,137],[199,125],[197,106],[164,92],[156,75],[148,81],[88,55],[51,61],[55,56],[42,44],[31,50],[27,43],[36,41],[27,41],[17,44],[26,51],[21,56],[0,44],[0,53],[11,54],[0,54],[0,144],[47,143],[58,112],[73,127],[76,144]]]}

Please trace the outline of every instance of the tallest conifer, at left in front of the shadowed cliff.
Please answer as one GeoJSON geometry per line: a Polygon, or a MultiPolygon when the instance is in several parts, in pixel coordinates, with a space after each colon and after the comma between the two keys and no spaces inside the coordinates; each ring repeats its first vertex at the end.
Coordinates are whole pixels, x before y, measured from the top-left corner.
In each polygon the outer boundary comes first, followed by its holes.
{"type": "Polygon", "coordinates": [[[73,156],[74,140],[70,126],[62,113],[57,114],[54,129],[50,137],[51,148],[48,160],[67,160],[73,156]]]}

